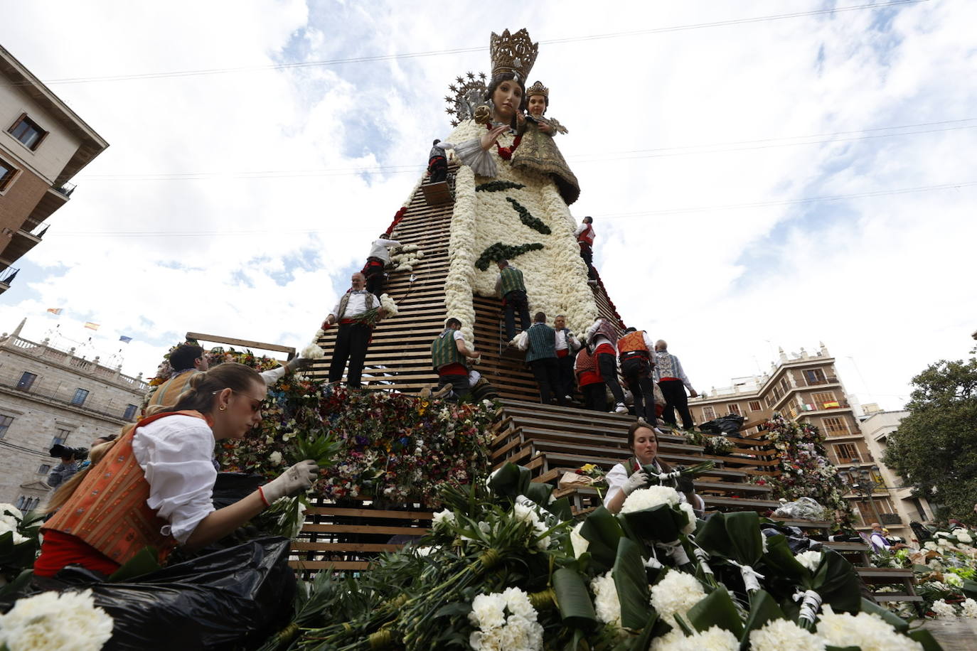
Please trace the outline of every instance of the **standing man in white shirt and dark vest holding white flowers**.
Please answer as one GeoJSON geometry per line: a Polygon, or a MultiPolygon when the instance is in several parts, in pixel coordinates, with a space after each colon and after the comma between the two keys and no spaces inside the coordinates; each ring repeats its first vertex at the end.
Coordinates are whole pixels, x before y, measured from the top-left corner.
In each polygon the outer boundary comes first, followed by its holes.
{"type": "MultiPolygon", "coordinates": [[[[336,333],[336,346],[332,350],[332,363],[329,365],[329,382],[338,383],[343,379],[343,369],[346,362],[350,362],[350,371],[346,376],[346,386],[360,388],[363,372],[363,360],[366,358],[366,346],[369,345],[373,334],[373,326],[363,321],[363,316],[380,301],[364,289],[366,278],[360,271],[351,278],[352,289],[339,300],[322,323],[325,330],[333,323],[339,323],[336,333]]],[[[380,310],[380,316],[384,314],[380,310]]]]}

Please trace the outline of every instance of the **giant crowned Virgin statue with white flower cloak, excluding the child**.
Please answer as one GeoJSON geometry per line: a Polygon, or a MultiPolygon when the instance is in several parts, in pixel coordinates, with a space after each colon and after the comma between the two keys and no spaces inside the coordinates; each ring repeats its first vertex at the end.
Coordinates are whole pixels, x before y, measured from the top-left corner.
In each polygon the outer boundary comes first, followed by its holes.
{"type": "MultiPolygon", "coordinates": [[[[475,323],[474,295],[494,296],[497,272],[491,263],[508,259],[524,273],[531,311],[566,314],[568,327],[582,331],[597,316],[597,305],[567,201],[551,174],[512,164],[522,142],[515,128],[525,109],[536,45],[522,29],[492,34],[490,46],[492,76],[479,109],[486,119],[462,121],[442,143],[461,163],[450,227],[447,316],[475,323]]],[[[471,326],[464,330],[473,341],[471,326]]]]}

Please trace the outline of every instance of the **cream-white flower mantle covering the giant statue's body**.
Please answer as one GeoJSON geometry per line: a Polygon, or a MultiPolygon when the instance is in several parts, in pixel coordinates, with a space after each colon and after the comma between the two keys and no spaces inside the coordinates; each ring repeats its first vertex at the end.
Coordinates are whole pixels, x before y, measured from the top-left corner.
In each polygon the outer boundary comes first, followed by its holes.
{"type": "MultiPolygon", "coordinates": [[[[462,122],[447,142],[466,142],[480,138],[484,127],[472,120],[462,122]]],[[[511,146],[513,137],[503,134],[499,144],[511,146]]],[[[485,253],[495,244],[519,247],[538,243],[542,247],[520,252],[515,263],[523,271],[531,311],[566,314],[568,327],[582,332],[597,317],[593,292],[587,285],[587,267],[580,258],[573,237],[576,226],[556,184],[543,175],[530,175],[504,162],[495,148],[496,176],[475,175],[461,165],[455,176],[455,202],[448,242],[449,265],[446,280],[447,316],[461,320],[465,339],[474,341],[468,329],[475,320],[474,295],[494,296],[497,271],[489,264],[493,255],[485,253]],[[481,189],[479,189],[481,188],[481,189]],[[543,224],[549,234],[525,224],[512,199],[531,216],[531,224],[543,224]],[[538,221],[538,224],[535,221],[538,221]],[[479,262],[479,266],[476,263],[479,262]]],[[[453,151],[452,151],[452,154],[453,151]]],[[[499,256],[501,257],[501,255],[499,256]]],[[[515,257],[512,254],[506,258],[515,257]]]]}

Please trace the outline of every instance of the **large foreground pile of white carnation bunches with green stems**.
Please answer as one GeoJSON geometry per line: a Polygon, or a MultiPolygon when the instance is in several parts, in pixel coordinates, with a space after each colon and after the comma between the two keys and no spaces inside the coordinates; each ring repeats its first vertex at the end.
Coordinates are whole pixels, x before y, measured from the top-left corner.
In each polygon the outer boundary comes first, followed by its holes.
{"type": "Polygon", "coordinates": [[[655,486],[574,527],[530,474],[446,488],[429,534],[356,578],[320,573],[262,651],[939,648],[863,599],[839,554],[799,562],[754,512],[697,521],[655,486]]]}

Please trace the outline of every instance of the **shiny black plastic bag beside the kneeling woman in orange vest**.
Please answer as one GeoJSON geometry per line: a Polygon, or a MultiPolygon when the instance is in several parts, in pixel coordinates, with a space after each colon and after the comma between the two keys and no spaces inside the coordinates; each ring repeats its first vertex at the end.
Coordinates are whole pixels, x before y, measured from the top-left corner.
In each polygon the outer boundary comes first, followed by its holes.
{"type": "Polygon", "coordinates": [[[66,567],[35,577],[22,596],[92,590],[114,621],[107,651],[257,648],[289,622],[295,575],[287,538],[264,538],[164,567],[124,583],[66,567]]]}

